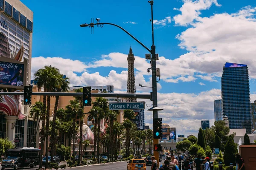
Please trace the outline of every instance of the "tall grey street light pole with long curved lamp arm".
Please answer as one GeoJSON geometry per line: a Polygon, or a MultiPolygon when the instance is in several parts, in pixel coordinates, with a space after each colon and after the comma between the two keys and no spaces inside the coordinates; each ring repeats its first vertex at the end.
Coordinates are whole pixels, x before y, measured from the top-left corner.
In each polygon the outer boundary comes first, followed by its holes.
{"type": "MultiPolygon", "coordinates": [[[[125,31],[125,33],[127,33],[130,37],[132,37],[135,41],[137,41],[147,51],[149,51],[151,53],[151,71],[152,71],[152,99],[151,100],[153,102],[153,108],[155,108],[155,107],[157,107],[157,71],[156,71],[156,46],[154,45],[154,20],[153,20],[153,4],[154,4],[154,1],[149,0],[148,3],[150,3],[150,5],[151,5],[151,29],[152,29],[151,50],[149,48],[147,48],[142,42],[137,40],[137,38],[135,38],[133,35],[131,35],[124,28],[122,28],[122,27],[120,27],[116,24],[113,24],[113,23],[100,23],[99,18],[96,19],[97,23],[81,24],[80,26],[81,27],[88,27],[89,26],[91,29],[93,29],[95,25],[97,25],[98,27],[103,27],[104,24],[116,26],[116,27],[122,29],[123,31],[125,31]]],[[[152,110],[153,110],[153,118],[158,118],[157,109],[152,109],[152,110]]],[[[158,139],[154,139],[153,144],[158,144],[158,139]]],[[[156,158],[156,160],[159,164],[159,153],[157,151],[154,151],[154,156],[155,156],[155,158],[156,158]]]]}

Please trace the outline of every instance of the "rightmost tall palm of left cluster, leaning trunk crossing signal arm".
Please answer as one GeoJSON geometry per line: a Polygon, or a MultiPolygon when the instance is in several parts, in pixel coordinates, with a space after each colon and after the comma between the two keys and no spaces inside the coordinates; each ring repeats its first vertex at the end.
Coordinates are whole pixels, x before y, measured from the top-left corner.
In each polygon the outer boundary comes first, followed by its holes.
{"type": "MultiPolygon", "coordinates": [[[[55,91],[56,92],[67,92],[70,88],[69,88],[69,78],[65,77],[63,78],[62,74],[58,75],[59,77],[59,87],[56,87],[55,91]]],[[[56,127],[56,115],[57,115],[57,109],[58,109],[58,102],[59,102],[59,96],[55,96],[55,105],[54,105],[54,115],[53,115],[53,119],[52,119],[52,129],[55,129],[56,127]]],[[[55,130],[52,130],[51,133],[51,138],[50,138],[50,144],[51,144],[51,159],[53,161],[53,156],[55,154],[55,145],[57,142],[56,139],[57,134],[55,133],[55,130]]]]}

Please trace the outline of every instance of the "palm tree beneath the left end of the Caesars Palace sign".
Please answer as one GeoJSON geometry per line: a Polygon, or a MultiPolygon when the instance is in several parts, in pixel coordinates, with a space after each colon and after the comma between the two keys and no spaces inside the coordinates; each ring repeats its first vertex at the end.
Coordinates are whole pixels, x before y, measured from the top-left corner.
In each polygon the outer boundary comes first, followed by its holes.
{"type": "Polygon", "coordinates": [[[110,127],[110,147],[112,148],[109,150],[110,155],[111,155],[111,160],[113,161],[113,156],[115,155],[115,148],[116,148],[116,140],[114,136],[114,121],[116,121],[118,116],[118,113],[115,111],[109,111],[108,113],[108,119],[109,119],[109,127],[110,127]]]}

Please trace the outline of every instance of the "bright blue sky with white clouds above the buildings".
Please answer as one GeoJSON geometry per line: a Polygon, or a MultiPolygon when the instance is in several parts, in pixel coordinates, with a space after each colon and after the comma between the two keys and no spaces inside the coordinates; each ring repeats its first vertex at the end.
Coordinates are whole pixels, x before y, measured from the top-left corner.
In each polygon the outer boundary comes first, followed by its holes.
{"type": "MultiPolygon", "coordinates": [[[[137,92],[150,91],[138,86],[151,86],[150,64],[144,59],[148,51],[114,26],[96,27],[94,34],[90,28],[79,27],[100,18],[122,26],[150,48],[147,0],[21,1],[34,12],[32,73],[52,64],[73,85],[114,85],[116,92],[126,92],[126,57],[131,45],[137,56],[137,92]]],[[[256,99],[255,7],[252,0],[154,1],[157,68],[161,69],[158,103],[164,108],[160,115],[178,133],[197,133],[201,119],[213,123],[213,100],[221,98],[225,62],[249,66],[251,101],[256,99]]],[[[152,124],[151,119],[145,122],[152,124]]]]}

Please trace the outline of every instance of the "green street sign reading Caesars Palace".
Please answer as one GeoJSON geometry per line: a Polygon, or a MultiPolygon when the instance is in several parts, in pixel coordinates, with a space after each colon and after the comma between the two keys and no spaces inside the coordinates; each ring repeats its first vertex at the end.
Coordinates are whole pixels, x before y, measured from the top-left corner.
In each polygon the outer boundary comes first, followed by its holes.
{"type": "Polygon", "coordinates": [[[145,109],[145,102],[118,102],[109,103],[109,110],[136,110],[145,109]]]}

